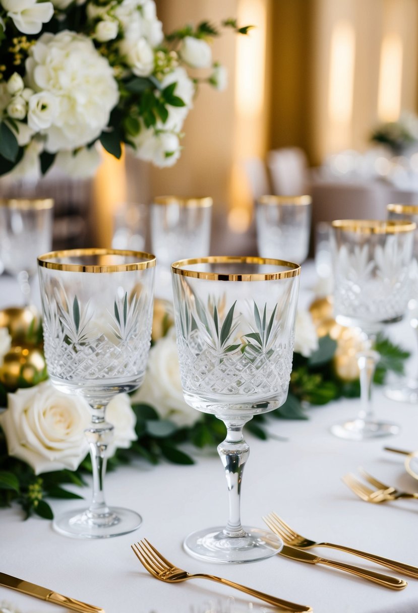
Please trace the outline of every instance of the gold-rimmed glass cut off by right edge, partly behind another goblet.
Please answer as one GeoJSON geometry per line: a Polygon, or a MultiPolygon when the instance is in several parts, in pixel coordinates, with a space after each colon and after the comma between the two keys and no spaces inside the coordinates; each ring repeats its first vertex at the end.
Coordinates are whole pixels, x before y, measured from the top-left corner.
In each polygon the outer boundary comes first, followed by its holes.
{"type": "MultiPolygon", "coordinates": [[[[393,221],[403,219],[418,224],[418,205],[388,204],[387,216],[388,219],[393,221]]],[[[409,268],[409,283],[408,318],[409,324],[415,332],[416,342],[418,342],[418,230],[414,234],[414,257],[412,258],[411,268],[409,268]]],[[[391,400],[416,403],[418,401],[418,376],[392,383],[386,387],[385,394],[391,400]]]]}

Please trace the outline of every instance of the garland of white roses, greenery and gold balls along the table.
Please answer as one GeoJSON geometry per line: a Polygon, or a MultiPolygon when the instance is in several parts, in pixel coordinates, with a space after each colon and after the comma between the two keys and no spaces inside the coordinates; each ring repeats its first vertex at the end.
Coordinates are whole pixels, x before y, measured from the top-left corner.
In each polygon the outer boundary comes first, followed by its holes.
{"type": "MultiPolygon", "coordinates": [[[[331,312],[332,305],[321,299],[313,303],[310,312],[297,314],[287,401],[276,411],[249,421],[246,428],[253,435],[267,439],[270,419],[307,419],[310,405],[359,396],[354,356],[360,341],[351,330],[338,326],[331,312]]],[[[29,369],[29,379],[22,348],[29,350],[36,338],[39,342],[39,333],[34,334],[37,327],[32,321],[22,329],[13,324],[10,313],[5,320],[4,313],[0,312],[0,323],[3,319],[9,327],[0,327],[2,406],[7,402],[7,409],[0,412],[0,507],[15,502],[26,516],[35,513],[51,519],[53,513],[45,499],[80,498],[65,485],[85,484],[85,476],[91,471],[84,435],[90,411],[83,398],[63,394],[42,380],[46,377],[42,362],[36,363],[37,370],[29,369]],[[13,367],[14,376],[10,378],[6,376],[9,358],[17,349],[21,350],[19,370],[13,367]]],[[[226,435],[222,421],[195,411],[184,401],[172,324],[170,314],[157,301],[153,346],[142,387],[130,397],[118,395],[107,407],[107,419],[115,426],[108,450],[110,470],[135,458],[153,464],[161,459],[192,464],[189,449],[215,448],[226,435]]],[[[375,381],[383,383],[388,370],[403,370],[409,354],[384,338],[378,339],[376,348],[382,358],[375,381]]]]}

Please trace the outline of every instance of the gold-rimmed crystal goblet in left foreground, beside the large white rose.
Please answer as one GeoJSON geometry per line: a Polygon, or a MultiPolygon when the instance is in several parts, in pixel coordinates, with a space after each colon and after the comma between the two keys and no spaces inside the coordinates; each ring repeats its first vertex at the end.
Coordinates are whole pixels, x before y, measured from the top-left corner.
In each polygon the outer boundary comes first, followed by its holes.
{"type": "Polygon", "coordinates": [[[104,500],[106,449],[113,426],[105,408],[142,383],[153,316],[154,256],[115,249],[55,251],[38,258],[48,375],[91,407],[86,438],[93,464],[88,509],[54,520],[66,536],[106,538],[135,530],[141,517],[104,500]]]}

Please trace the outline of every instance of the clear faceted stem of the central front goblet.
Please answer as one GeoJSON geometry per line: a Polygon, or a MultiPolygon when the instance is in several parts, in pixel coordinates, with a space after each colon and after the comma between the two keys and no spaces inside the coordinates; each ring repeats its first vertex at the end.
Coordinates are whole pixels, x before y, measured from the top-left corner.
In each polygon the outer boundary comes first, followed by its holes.
{"type": "Polygon", "coordinates": [[[226,439],[218,445],[218,454],[225,469],[229,493],[229,517],[224,529],[227,536],[245,535],[240,516],[241,480],[245,462],[249,455],[249,445],[242,434],[245,423],[246,421],[225,422],[226,439]]]}

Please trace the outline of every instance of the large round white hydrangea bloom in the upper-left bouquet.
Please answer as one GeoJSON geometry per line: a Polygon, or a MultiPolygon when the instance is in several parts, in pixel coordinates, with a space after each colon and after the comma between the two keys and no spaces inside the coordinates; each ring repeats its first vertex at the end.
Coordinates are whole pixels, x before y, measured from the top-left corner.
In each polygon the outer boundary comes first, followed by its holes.
{"type": "Polygon", "coordinates": [[[42,34],[29,50],[26,73],[28,86],[57,102],[51,126],[42,130],[45,150],[72,150],[99,137],[119,92],[112,67],[88,37],[66,30],[42,34]]]}

